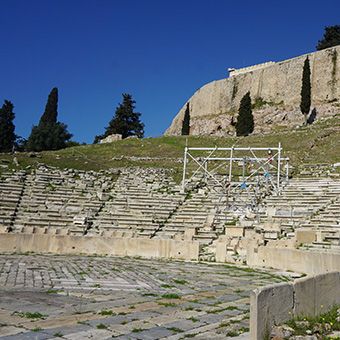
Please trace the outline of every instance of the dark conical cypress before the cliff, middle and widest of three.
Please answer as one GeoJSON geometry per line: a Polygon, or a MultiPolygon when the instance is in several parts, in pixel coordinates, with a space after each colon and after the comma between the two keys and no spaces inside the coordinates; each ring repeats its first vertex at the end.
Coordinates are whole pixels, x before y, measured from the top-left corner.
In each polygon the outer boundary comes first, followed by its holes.
{"type": "Polygon", "coordinates": [[[235,128],[237,136],[248,136],[254,131],[250,92],[247,92],[241,99],[235,128]]]}

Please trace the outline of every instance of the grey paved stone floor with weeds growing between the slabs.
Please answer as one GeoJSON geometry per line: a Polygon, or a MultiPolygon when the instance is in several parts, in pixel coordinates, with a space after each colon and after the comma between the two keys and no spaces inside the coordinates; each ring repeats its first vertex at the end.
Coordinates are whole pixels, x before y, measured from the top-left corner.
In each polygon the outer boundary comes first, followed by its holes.
{"type": "Polygon", "coordinates": [[[0,255],[0,338],[248,338],[250,291],[281,280],[216,264],[0,255]]]}

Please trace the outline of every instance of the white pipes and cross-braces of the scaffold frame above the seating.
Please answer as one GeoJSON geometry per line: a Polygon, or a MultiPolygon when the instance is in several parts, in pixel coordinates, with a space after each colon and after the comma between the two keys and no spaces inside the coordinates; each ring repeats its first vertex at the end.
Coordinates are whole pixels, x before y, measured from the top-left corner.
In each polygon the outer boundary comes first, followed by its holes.
{"type": "MultiPolygon", "coordinates": [[[[229,183],[229,185],[232,182],[232,170],[233,170],[233,162],[239,162],[243,161],[243,164],[245,163],[245,159],[250,162],[257,163],[257,169],[253,171],[250,175],[244,176],[243,173],[243,180],[240,182],[234,182],[233,188],[229,189],[228,186],[228,195],[235,192],[237,188],[239,188],[242,183],[246,183],[251,179],[254,175],[258,174],[261,170],[266,172],[266,167],[273,162],[273,160],[276,160],[277,166],[272,166],[274,168],[275,174],[274,174],[274,180],[270,179],[271,185],[273,189],[275,190],[276,194],[280,194],[281,186],[282,186],[282,178],[285,178],[285,181],[288,182],[289,177],[289,158],[282,157],[283,149],[281,147],[281,143],[278,144],[277,147],[188,147],[186,146],[184,149],[184,160],[183,160],[183,177],[182,177],[182,192],[185,192],[187,184],[190,182],[190,180],[201,170],[204,173],[205,177],[210,177],[214,182],[216,182],[217,185],[221,186],[222,188],[225,187],[225,182],[219,180],[216,178],[213,174],[213,171],[208,170],[208,163],[210,161],[221,161],[222,165],[225,164],[224,162],[229,162],[228,167],[228,178],[226,179],[229,183]],[[193,156],[192,151],[204,151],[209,152],[209,154],[206,156],[193,156]],[[229,157],[214,157],[214,154],[217,151],[223,151],[223,152],[230,152],[229,157]],[[247,157],[235,157],[235,153],[237,151],[242,152],[248,152],[250,156],[247,157]],[[255,152],[257,151],[267,151],[268,155],[267,157],[258,157],[256,156],[255,152]],[[194,163],[198,166],[197,169],[193,172],[193,174],[190,176],[189,179],[187,179],[187,166],[189,160],[193,160],[194,163]],[[283,169],[283,162],[285,162],[285,167],[283,169]],[[281,172],[282,169],[285,170],[285,175],[282,176],[281,172]]],[[[221,165],[217,166],[215,169],[219,168],[221,165]]],[[[244,172],[244,170],[243,170],[244,172]]]]}

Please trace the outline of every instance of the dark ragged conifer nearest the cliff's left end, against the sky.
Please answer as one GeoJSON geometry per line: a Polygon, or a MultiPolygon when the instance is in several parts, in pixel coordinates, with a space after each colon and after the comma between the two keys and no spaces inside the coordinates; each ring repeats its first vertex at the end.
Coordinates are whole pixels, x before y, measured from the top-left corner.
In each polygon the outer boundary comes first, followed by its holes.
{"type": "Polygon", "coordinates": [[[135,104],[130,94],[123,93],[123,103],[116,108],[114,117],[109,122],[109,126],[105,128],[105,133],[96,136],[94,143],[112,134],[121,134],[122,138],[129,136],[143,138],[144,124],[140,121],[141,114],[135,112],[135,104]]]}

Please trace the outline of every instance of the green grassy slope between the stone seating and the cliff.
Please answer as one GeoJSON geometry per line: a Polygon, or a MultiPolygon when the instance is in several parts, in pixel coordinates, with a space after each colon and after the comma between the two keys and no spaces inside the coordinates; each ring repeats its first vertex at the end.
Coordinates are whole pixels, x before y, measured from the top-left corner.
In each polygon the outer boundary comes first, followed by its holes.
{"type": "MultiPolygon", "coordinates": [[[[29,157],[28,153],[18,153],[19,167],[35,166],[39,163],[60,168],[84,170],[104,170],[112,167],[143,166],[173,168],[177,174],[182,164],[171,158],[183,157],[183,150],[189,146],[277,146],[282,143],[284,156],[291,159],[291,164],[335,163],[340,162],[340,115],[312,126],[293,131],[281,131],[271,135],[248,137],[159,137],[128,139],[111,144],[85,145],[59,151],[42,152],[38,157],[29,157]],[[155,161],[132,161],[131,159],[112,160],[113,157],[136,156],[164,158],[155,161]]],[[[13,164],[13,155],[0,154],[0,164],[13,164]],[[7,162],[7,163],[6,163],[7,162]]],[[[1,171],[1,169],[0,169],[1,171]]],[[[177,176],[176,176],[177,177],[177,176]]]]}

